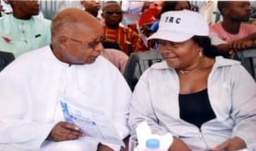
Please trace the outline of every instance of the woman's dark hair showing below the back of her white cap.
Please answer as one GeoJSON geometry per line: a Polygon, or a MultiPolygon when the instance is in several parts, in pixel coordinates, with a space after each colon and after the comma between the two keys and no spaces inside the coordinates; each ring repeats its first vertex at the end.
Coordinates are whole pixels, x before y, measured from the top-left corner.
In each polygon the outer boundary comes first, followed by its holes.
{"type": "Polygon", "coordinates": [[[198,43],[198,45],[201,48],[203,48],[203,53],[205,54],[205,56],[209,58],[215,58],[216,56],[224,56],[225,58],[227,58],[228,54],[218,51],[218,49],[212,45],[209,36],[193,36],[192,40],[198,43]]]}

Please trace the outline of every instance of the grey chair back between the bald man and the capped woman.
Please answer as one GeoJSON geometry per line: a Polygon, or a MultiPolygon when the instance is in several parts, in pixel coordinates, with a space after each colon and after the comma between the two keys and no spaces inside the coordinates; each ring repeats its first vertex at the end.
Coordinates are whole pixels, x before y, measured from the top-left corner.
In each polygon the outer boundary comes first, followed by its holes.
{"type": "Polygon", "coordinates": [[[131,53],[126,67],[125,80],[127,81],[131,91],[137,84],[138,79],[143,72],[147,70],[152,64],[162,61],[162,57],[158,51],[152,49],[146,52],[131,53]]]}

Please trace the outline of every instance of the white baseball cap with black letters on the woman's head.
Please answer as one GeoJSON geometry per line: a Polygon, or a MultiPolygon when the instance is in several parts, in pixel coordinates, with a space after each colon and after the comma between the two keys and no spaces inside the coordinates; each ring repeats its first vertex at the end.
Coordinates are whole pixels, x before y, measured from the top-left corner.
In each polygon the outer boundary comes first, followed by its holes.
{"type": "Polygon", "coordinates": [[[209,26],[201,14],[184,9],[161,14],[158,31],[148,40],[183,42],[192,36],[209,36],[209,26]]]}

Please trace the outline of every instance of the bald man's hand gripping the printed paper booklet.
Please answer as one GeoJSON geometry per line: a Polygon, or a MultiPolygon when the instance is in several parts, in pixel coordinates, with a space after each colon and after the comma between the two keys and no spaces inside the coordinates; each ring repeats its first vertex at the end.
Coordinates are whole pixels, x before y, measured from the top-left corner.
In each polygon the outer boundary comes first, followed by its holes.
{"type": "Polygon", "coordinates": [[[78,126],[73,126],[72,124],[66,121],[61,121],[53,127],[47,139],[53,140],[55,142],[60,142],[75,140],[82,136],[83,133],[79,131],[78,126]]]}

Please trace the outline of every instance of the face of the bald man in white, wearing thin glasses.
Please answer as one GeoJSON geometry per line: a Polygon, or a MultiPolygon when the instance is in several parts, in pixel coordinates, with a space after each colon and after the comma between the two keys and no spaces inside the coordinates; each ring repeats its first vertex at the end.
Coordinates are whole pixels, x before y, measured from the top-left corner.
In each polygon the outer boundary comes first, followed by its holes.
{"type": "Polygon", "coordinates": [[[79,25],[78,29],[60,37],[65,45],[61,51],[62,59],[68,64],[92,64],[103,51],[103,28],[90,27],[90,30],[88,26],[79,25]]]}

